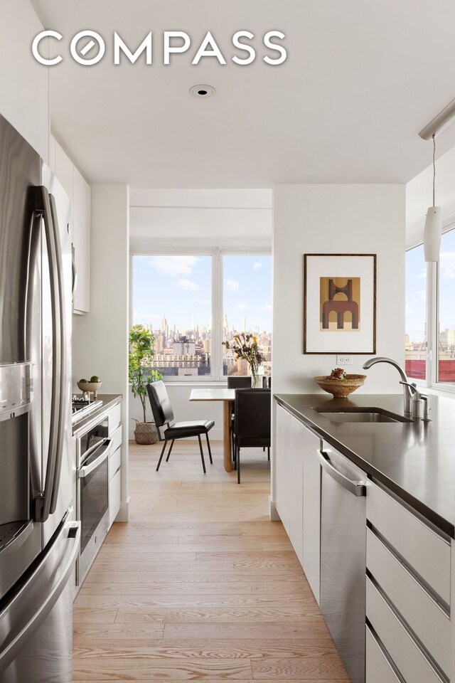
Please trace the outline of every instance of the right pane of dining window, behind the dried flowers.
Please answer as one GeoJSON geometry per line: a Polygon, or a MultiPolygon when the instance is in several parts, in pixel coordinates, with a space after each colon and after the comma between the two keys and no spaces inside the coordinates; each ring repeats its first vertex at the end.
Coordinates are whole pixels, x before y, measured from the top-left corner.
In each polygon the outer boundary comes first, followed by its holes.
{"type": "MultiPolygon", "coordinates": [[[[265,356],[264,374],[272,361],[272,257],[267,254],[223,255],[223,342],[238,332],[257,336],[265,356]]],[[[246,375],[246,361],[236,361],[223,346],[223,375],[246,375]]]]}

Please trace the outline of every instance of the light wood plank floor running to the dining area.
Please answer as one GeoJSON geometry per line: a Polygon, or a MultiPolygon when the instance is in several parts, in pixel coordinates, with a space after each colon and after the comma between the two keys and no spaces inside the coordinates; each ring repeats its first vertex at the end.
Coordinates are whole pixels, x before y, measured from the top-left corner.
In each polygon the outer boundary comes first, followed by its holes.
{"type": "Polygon", "coordinates": [[[348,676],[281,522],[269,463],[245,449],[242,484],[213,442],[130,448],[129,524],[114,524],[74,604],[74,680],[294,681],[348,676]],[[247,455],[247,452],[250,455],[247,455]]]}

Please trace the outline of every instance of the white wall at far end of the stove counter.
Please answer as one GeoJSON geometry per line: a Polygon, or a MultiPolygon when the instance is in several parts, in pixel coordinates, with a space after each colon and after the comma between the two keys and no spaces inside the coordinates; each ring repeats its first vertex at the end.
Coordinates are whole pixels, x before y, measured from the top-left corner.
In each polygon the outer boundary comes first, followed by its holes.
{"type": "Polygon", "coordinates": [[[101,393],[122,393],[122,507],[128,517],[129,189],[92,185],[90,313],[73,316],[73,389],[96,374],[101,393]]]}

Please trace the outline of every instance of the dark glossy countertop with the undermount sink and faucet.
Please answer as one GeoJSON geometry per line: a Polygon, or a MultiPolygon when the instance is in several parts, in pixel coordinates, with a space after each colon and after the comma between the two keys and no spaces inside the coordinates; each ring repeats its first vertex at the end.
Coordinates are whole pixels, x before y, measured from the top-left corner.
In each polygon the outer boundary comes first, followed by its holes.
{"type": "Polygon", "coordinates": [[[334,423],[314,408],[381,408],[403,415],[402,394],[331,398],[275,394],[277,402],[455,538],[455,401],[429,396],[431,422],[334,423]]]}

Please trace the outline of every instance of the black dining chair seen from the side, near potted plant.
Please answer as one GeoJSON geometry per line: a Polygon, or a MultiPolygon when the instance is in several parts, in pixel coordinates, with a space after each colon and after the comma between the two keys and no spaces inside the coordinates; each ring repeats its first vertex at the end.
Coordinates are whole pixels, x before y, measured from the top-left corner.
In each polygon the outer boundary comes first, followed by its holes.
{"type": "Polygon", "coordinates": [[[158,472],[159,466],[161,465],[161,460],[163,460],[164,451],[166,450],[168,441],[171,441],[171,446],[168,450],[166,462],[169,460],[173,443],[176,439],[188,439],[191,436],[197,436],[199,440],[200,459],[202,460],[202,468],[205,474],[204,454],[200,435],[205,434],[205,438],[207,439],[210,465],[213,465],[208,433],[213,425],[215,425],[215,422],[213,420],[189,420],[186,422],[175,422],[171,401],[169,401],[168,392],[166,391],[164,382],[160,380],[159,382],[147,384],[146,388],[147,393],[149,394],[151,412],[154,415],[156,428],[158,429],[159,440],[164,441],[163,450],[161,450],[158,465],[156,465],[156,472],[158,472]]]}

